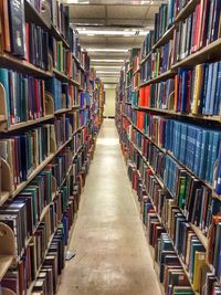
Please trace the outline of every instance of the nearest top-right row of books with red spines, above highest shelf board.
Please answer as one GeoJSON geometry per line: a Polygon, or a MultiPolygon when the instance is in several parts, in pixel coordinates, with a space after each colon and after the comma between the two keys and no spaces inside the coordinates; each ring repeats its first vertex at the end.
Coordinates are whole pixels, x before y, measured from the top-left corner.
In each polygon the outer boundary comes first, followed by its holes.
{"type": "Polygon", "coordinates": [[[221,36],[219,0],[201,0],[192,14],[179,23],[173,34],[173,63],[221,36]]]}

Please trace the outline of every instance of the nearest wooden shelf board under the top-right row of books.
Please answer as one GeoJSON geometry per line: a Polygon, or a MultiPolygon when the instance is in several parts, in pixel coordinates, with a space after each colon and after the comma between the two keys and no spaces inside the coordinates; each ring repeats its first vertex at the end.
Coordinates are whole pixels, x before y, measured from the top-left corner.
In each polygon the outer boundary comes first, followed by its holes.
{"type": "Polygon", "coordinates": [[[171,66],[171,69],[176,70],[180,66],[191,66],[209,61],[215,61],[218,57],[221,57],[221,38],[202,48],[201,50],[190,54],[182,61],[177,62],[171,66]]]}

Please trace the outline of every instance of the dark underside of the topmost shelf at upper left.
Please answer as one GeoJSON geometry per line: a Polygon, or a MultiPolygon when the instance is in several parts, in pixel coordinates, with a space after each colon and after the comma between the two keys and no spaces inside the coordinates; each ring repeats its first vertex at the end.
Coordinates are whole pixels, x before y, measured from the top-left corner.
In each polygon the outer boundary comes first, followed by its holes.
{"type": "Polygon", "coordinates": [[[24,1],[24,13],[27,22],[33,22],[46,31],[50,30],[51,19],[49,19],[49,22],[46,22],[35,7],[29,2],[29,0],[24,1]]]}

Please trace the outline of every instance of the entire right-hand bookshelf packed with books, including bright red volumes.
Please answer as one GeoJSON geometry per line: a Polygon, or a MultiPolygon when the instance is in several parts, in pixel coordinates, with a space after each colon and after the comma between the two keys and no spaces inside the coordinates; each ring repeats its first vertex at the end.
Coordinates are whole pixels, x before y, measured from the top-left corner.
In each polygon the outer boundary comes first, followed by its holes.
{"type": "MultiPolygon", "coordinates": [[[[188,294],[201,295],[203,294],[202,285],[201,283],[199,284],[196,281],[197,276],[198,280],[204,280],[203,284],[210,284],[210,276],[213,277],[213,282],[215,283],[211,283],[211,288],[206,291],[207,294],[212,294],[212,288],[217,288],[217,291],[220,291],[221,288],[220,273],[218,270],[219,256],[215,256],[219,252],[219,249],[217,249],[214,244],[214,240],[215,243],[220,243],[220,235],[219,233],[215,234],[214,230],[219,228],[218,223],[220,222],[219,217],[221,213],[221,193],[218,191],[217,186],[217,167],[220,167],[220,156],[218,152],[220,139],[218,139],[217,149],[215,147],[212,147],[214,150],[214,160],[212,161],[211,168],[208,168],[207,170],[207,175],[210,173],[210,177],[207,178],[206,176],[203,176],[203,173],[198,172],[196,168],[198,164],[196,164],[193,167],[193,165],[190,165],[190,161],[187,160],[188,156],[186,156],[185,160],[182,156],[180,156],[182,151],[179,148],[183,148],[185,145],[186,151],[187,146],[189,145],[188,140],[190,140],[190,138],[183,137],[183,134],[181,133],[179,137],[178,129],[176,129],[176,134],[172,133],[170,139],[167,138],[169,137],[170,131],[173,130],[169,129],[168,127],[168,124],[170,123],[175,124],[175,126],[182,126],[180,128],[188,126],[187,128],[191,129],[193,128],[192,126],[196,126],[196,128],[199,128],[200,131],[200,128],[202,128],[204,133],[210,131],[211,137],[213,136],[213,134],[220,133],[220,107],[217,109],[212,105],[211,109],[207,110],[206,101],[208,98],[201,101],[202,98],[200,95],[202,94],[197,94],[198,96],[196,96],[194,93],[193,97],[193,94],[190,94],[188,92],[183,94],[181,92],[183,92],[185,87],[188,87],[182,80],[185,77],[185,74],[182,73],[185,71],[189,71],[186,69],[190,69],[190,72],[192,71],[192,74],[196,73],[193,71],[200,69],[200,64],[202,63],[206,67],[210,66],[211,69],[213,69],[213,66],[218,66],[221,60],[221,35],[217,34],[215,36],[213,36],[213,39],[210,35],[207,35],[207,42],[204,41],[204,39],[196,39],[194,41],[192,41],[193,48],[190,46],[187,49],[183,48],[188,44],[188,41],[186,41],[186,43],[180,45],[181,50],[177,49],[176,42],[182,42],[181,39],[178,40],[177,38],[181,36],[182,39],[186,38],[188,40],[189,35],[186,34],[185,25],[188,27],[188,21],[190,21],[190,19],[192,20],[192,18],[196,18],[196,11],[198,11],[198,13],[199,11],[201,11],[202,14],[210,13],[210,18],[217,18],[218,14],[215,14],[215,12],[214,14],[211,14],[213,12],[212,10],[209,10],[210,7],[202,9],[202,6],[206,1],[190,0],[186,1],[186,4],[183,7],[179,7],[178,2],[179,1],[168,1],[168,4],[161,6],[161,8],[159,9],[159,14],[156,17],[158,18],[158,21],[155,22],[155,30],[150,31],[144,41],[139,56],[140,83],[138,87],[134,84],[134,81],[128,78],[128,75],[130,73],[128,72],[128,70],[131,71],[134,62],[134,56],[130,53],[129,62],[125,64],[125,70],[120,73],[119,84],[116,89],[116,126],[119,133],[123,156],[127,164],[128,176],[131,181],[133,189],[138,196],[141,212],[149,210],[146,212],[146,217],[141,215],[145,224],[146,222],[150,222],[150,224],[148,224],[149,228],[146,226],[146,233],[149,234],[150,232],[151,234],[151,232],[155,231],[155,225],[151,224],[159,223],[158,226],[161,226],[161,230],[164,229],[162,232],[167,234],[167,239],[171,242],[173,254],[178,257],[180,267],[182,268],[183,274],[188,280],[189,287],[192,289],[189,289],[188,292],[190,293],[188,294]],[[207,12],[208,10],[209,12],[207,12]],[[164,19],[167,22],[166,27],[164,27],[165,23],[161,23],[164,22],[164,19]],[[169,52],[168,55],[167,51],[169,52]],[[161,59],[161,67],[158,67],[159,64],[158,60],[156,59],[157,54],[159,59],[161,59]],[[164,65],[164,63],[166,63],[166,65],[164,65]],[[167,69],[167,71],[161,71],[162,69],[167,69]],[[158,74],[156,75],[156,73],[158,74]],[[178,94],[176,87],[180,87],[180,94],[178,94]],[[183,99],[183,97],[187,97],[187,99],[189,99],[188,95],[190,95],[191,104],[189,108],[189,101],[177,101],[183,99]],[[197,110],[196,108],[193,109],[196,97],[199,97],[197,98],[199,99],[198,106],[200,105],[201,107],[201,104],[204,104],[202,105],[202,109],[200,109],[200,107],[197,108],[197,110]],[[185,144],[183,141],[181,141],[183,139],[180,139],[179,141],[179,138],[181,138],[181,136],[182,138],[186,138],[185,144]],[[166,141],[164,140],[171,140],[170,143],[172,145],[172,148],[171,146],[167,146],[167,144],[165,145],[166,141]],[[175,143],[178,143],[176,144],[178,146],[176,146],[175,143]],[[180,146],[179,143],[181,143],[180,146]],[[211,202],[212,209],[209,202],[204,203],[204,200],[201,200],[200,206],[204,206],[204,211],[200,211],[200,214],[199,212],[196,213],[196,211],[192,211],[196,210],[196,204],[198,204],[199,199],[196,192],[193,193],[192,191],[188,190],[187,182],[185,182],[186,191],[183,192],[186,193],[186,199],[183,203],[181,203],[180,186],[182,185],[180,183],[182,176],[180,175],[182,173],[183,179],[186,178],[186,176],[188,176],[188,178],[191,179],[190,181],[197,181],[197,183],[199,183],[199,191],[202,191],[203,189],[203,191],[207,191],[209,193],[208,198],[211,202]],[[194,202],[192,203],[190,210],[188,202],[191,199],[194,200],[194,202]],[[159,202],[162,209],[159,206],[159,202]],[[171,203],[173,203],[172,209],[171,203]],[[170,213],[172,214],[172,218],[171,215],[167,215],[169,214],[167,210],[171,210],[170,213]],[[211,215],[210,218],[208,217],[207,221],[201,220],[199,222],[199,220],[202,218],[202,212],[207,212],[207,214],[209,212],[211,215]],[[151,218],[155,221],[151,222],[151,218]],[[214,221],[215,219],[219,221],[214,221]],[[180,234],[187,234],[190,239],[190,243],[188,242],[187,247],[187,240],[185,240],[186,238],[182,238],[186,241],[186,249],[191,249],[191,243],[194,243],[193,239],[196,239],[200,249],[199,251],[202,253],[201,257],[203,257],[203,264],[200,264],[201,266],[199,267],[201,270],[203,265],[203,267],[207,270],[207,278],[200,278],[201,274],[199,273],[199,268],[197,268],[198,271],[196,271],[196,273],[191,270],[192,263],[199,263],[198,257],[193,256],[193,262],[187,261],[186,251],[189,250],[185,251],[185,246],[181,250],[180,244],[178,244],[177,242],[180,238],[178,238],[178,234],[176,233],[176,228],[171,228],[171,224],[173,224],[172,222],[177,222],[175,226],[179,226],[182,223],[188,228],[188,230],[179,228],[180,230],[182,230],[180,234]],[[204,225],[202,225],[201,222],[203,222],[204,224],[207,223],[207,229],[204,228],[204,225]],[[194,238],[191,238],[191,235],[194,238]],[[213,239],[213,242],[211,242],[211,239],[213,239]],[[212,255],[211,252],[213,252],[212,255]],[[197,262],[194,262],[194,259],[197,260],[197,262]]],[[[215,9],[213,11],[215,11],[215,9]]],[[[218,24],[220,22],[219,18],[220,15],[218,17],[218,24]]],[[[201,25],[202,27],[196,24],[194,28],[198,28],[198,30],[201,32],[201,35],[204,36],[207,32],[203,31],[203,25],[206,24],[202,23],[201,25]]],[[[201,66],[201,69],[203,67],[201,66]]],[[[188,74],[190,74],[190,72],[188,72],[188,74]]],[[[137,71],[135,69],[133,70],[133,74],[137,74],[137,71]]],[[[203,75],[204,72],[202,73],[201,80],[204,78],[203,75]]],[[[213,89],[211,87],[210,92],[213,91],[212,95],[213,97],[215,97],[215,95],[218,94],[215,94],[214,89],[219,89],[220,81],[218,80],[218,76],[213,76],[213,80],[217,82],[215,84],[213,82],[213,89]]],[[[188,80],[188,83],[193,82],[190,82],[190,80],[188,80]]],[[[198,86],[198,88],[204,87],[207,89],[207,97],[211,95],[211,93],[208,91],[208,83],[209,82],[207,80],[202,80],[201,86],[198,86]]],[[[194,86],[194,84],[192,85],[194,86]]],[[[193,86],[191,91],[193,91],[193,86]]],[[[206,95],[206,91],[203,95],[206,95]]],[[[198,145],[198,148],[201,149],[202,141],[199,141],[198,145]]],[[[194,147],[193,152],[196,152],[196,150],[197,147],[194,147]]],[[[206,157],[209,157],[209,151],[206,157]]],[[[202,166],[202,164],[199,165],[202,166]]],[[[201,196],[204,196],[204,192],[201,196]]],[[[157,229],[154,234],[158,234],[157,229]]],[[[164,267],[162,265],[158,265],[160,264],[158,257],[159,255],[161,255],[160,249],[158,249],[160,239],[164,239],[160,231],[158,240],[151,240],[150,238],[148,238],[150,247],[152,247],[154,244],[154,247],[158,251],[157,254],[156,252],[152,254],[154,265],[158,276],[160,276],[160,267],[164,267]]],[[[181,241],[179,243],[181,243],[181,241]]],[[[165,286],[167,281],[160,281],[160,285],[161,283],[164,283],[165,286]]],[[[162,286],[160,288],[162,291],[162,286]]]]}

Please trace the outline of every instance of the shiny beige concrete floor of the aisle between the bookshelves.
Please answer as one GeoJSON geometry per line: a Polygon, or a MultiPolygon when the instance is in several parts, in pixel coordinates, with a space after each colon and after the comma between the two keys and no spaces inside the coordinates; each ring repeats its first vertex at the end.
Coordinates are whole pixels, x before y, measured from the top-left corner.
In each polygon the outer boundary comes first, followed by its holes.
{"type": "Polygon", "coordinates": [[[114,120],[101,129],[70,250],[59,295],[160,294],[114,120]]]}

